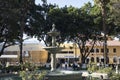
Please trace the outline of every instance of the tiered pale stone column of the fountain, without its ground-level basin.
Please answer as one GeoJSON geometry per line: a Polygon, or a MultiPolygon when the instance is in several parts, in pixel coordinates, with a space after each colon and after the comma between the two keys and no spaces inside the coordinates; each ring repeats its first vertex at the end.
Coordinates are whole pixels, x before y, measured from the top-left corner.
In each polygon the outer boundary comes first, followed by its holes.
{"type": "Polygon", "coordinates": [[[48,32],[48,35],[52,37],[52,47],[44,48],[51,53],[51,71],[56,70],[56,53],[63,49],[56,47],[56,36],[58,36],[59,34],[60,32],[57,32],[57,30],[55,29],[55,24],[53,24],[52,30],[48,32]]]}

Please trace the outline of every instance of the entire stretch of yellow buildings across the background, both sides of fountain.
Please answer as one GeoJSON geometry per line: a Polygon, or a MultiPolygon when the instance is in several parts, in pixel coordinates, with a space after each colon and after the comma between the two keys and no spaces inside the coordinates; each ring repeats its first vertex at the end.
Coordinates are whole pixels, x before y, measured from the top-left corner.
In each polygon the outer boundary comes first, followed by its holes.
{"type": "MultiPolygon", "coordinates": [[[[91,47],[90,44],[87,44],[91,47]]],[[[77,44],[64,43],[61,45],[64,49],[56,54],[57,62],[73,63],[78,61],[80,63],[80,49],[77,44]]],[[[90,55],[86,59],[86,63],[104,62],[103,43],[96,44],[90,55]]],[[[120,42],[107,41],[107,55],[109,64],[120,64],[120,42]]],[[[23,45],[23,62],[29,61],[36,65],[44,65],[48,59],[48,52],[43,49],[40,44],[24,44],[23,45]]],[[[19,62],[20,51],[19,46],[10,46],[5,49],[4,54],[0,57],[1,62],[9,62],[10,64],[17,64],[19,62]]]]}

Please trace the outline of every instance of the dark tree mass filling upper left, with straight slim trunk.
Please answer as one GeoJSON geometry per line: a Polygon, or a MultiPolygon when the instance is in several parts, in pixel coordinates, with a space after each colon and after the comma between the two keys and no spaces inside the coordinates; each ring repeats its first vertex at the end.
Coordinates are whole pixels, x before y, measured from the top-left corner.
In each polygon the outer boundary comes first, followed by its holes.
{"type": "Polygon", "coordinates": [[[6,47],[18,42],[22,63],[23,33],[30,31],[30,11],[34,6],[34,0],[5,0],[0,3],[0,41],[3,43],[0,55],[6,47]]]}

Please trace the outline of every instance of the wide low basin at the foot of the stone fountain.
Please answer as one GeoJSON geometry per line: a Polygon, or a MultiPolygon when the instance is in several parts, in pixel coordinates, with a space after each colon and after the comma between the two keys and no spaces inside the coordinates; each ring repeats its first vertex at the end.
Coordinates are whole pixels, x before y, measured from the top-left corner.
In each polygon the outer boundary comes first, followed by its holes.
{"type": "Polygon", "coordinates": [[[82,73],[79,71],[56,70],[48,72],[45,77],[48,80],[82,80],[82,73]]]}

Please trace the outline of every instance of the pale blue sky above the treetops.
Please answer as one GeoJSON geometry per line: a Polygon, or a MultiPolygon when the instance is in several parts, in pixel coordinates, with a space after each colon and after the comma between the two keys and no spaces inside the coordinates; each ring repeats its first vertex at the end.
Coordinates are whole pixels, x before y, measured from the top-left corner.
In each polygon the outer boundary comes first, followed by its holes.
{"type": "MultiPolygon", "coordinates": [[[[65,5],[72,5],[74,7],[80,8],[89,1],[93,4],[93,0],[47,0],[47,3],[57,4],[59,7],[64,7],[65,5]]],[[[41,0],[35,0],[35,3],[39,4],[41,3],[41,0]]]]}

